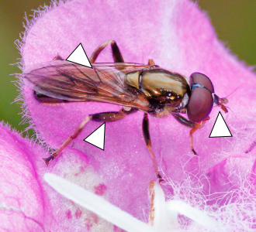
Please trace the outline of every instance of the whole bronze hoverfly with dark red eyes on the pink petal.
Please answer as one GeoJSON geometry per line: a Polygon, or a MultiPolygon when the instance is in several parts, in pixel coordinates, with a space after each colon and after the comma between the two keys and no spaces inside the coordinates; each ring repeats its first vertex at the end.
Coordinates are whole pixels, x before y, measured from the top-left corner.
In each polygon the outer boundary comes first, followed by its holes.
{"type": "Polygon", "coordinates": [[[190,80],[181,74],[164,70],[149,60],[147,65],[125,63],[114,40],[102,43],[90,58],[92,68],[63,60],[56,56],[50,63],[29,67],[24,71],[24,82],[35,91],[43,103],[67,101],[99,101],[123,106],[120,111],[89,114],[67,140],[44,161],[59,155],[76,138],[88,121],[119,121],[136,111],[144,112],[143,134],[147,149],[158,174],[157,162],[152,151],[147,115],[161,118],[171,114],[182,125],[192,128],[192,134],[205,124],[214,105],[227,113],[227,98],[214,93],[211,80],[202,73],[192,73],[190,80]],[[111,45],[114,63],[95,63],[99,53],[111,45]],[[187,114],[188,118],[181,114],[187,114]]]}

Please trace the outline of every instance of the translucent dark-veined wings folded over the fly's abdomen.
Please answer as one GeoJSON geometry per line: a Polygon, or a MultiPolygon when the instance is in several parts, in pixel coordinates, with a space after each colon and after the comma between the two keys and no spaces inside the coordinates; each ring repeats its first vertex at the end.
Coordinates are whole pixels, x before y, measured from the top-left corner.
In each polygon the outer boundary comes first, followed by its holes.
{"type": "Polygon", "coordinates": [[[41,63],[24,71],[24,82],[40,94],[66,101],[100,101],[147,110],[143,94],[135,94],[125,74],[145,67],[136,63],[92,63],[92,68],[66,60],[41,63]]]}

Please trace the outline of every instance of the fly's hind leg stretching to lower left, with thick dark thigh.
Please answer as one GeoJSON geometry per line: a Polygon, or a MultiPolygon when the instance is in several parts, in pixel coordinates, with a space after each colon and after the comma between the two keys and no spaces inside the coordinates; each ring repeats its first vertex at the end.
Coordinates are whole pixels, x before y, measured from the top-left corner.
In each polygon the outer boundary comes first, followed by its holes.
{"type": "Polygon", "coordinates": [[[81,125],[79,125],[78,128],[76,128],[73,134],[66,139],[66,141],[61,145],[60,148],[57,149],[56,152],[54,152],[54,154],[50,155],[48,158],[43,158],[44,162],[46,162],[46,164],[49,165],[51,159],[54,159],[57,157],[57,155],[60,155],[64,148],[66,148],[67,145],[69,145],[74,140],[74,138],[78,137],[78,135],[81,133],[82,129],[85,127],[88,121],[119,121],[126,117],[126,115],[132,114],[136,111],[137,109],[134,108],[131,108],[130,111],[125,111],[122,108],[120,111],[117,112],[106,112],[88,115],[85,118],[85,120],[81,122],[81,125]]]}

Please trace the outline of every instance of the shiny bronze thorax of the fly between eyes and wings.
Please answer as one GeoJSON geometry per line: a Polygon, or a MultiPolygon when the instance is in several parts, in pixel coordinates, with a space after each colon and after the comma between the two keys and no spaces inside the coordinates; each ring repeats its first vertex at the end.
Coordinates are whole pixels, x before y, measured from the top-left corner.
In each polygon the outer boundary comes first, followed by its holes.
{"type": "Polygon", "coordinates": [[[185,77],[159,67],[126,73],[125,83],[131,90],[147,97],[145,113],[157,118],[177,112],[189,103],[190,89],[185,77]]]}

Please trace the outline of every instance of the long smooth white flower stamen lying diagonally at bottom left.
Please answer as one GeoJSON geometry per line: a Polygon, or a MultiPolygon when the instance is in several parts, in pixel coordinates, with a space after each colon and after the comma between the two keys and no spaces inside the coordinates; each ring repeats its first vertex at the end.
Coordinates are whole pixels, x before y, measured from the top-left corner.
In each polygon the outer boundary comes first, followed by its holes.
{"type": "Polygon", "coordinates": [[[93,213],[98,214],[99,217],[108,220],[110,223],[115,224],[123,230],[130,232],[157,232],[153,227],[137,220],[137,218],[120,210],[118,207],[113,206],[102,197],[97,196],[74,183],[51,173],[44,174],[43,178],[50,186],[67,199],[91,210],[93,213]]]}

